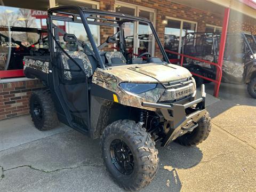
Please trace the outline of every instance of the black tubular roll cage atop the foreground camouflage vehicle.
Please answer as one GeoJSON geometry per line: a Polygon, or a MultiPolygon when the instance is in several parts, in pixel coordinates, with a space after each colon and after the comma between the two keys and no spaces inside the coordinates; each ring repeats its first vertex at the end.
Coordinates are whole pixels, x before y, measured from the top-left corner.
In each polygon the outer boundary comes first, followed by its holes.
{"type": "MultiPolygon", "coordinates": [[[[124,22],[129,22],[129,21],[139,21],[139,22],[143,22],[143,23],[147,23],[150,26],[150,29],[152,30],[152,33],[156,39],[156,42],[159,46],[159,49],[161,50],[161,53],[163,54],[164,60],[169,63],[169,59],[167,58],[167,55],[164,51],[163,45],[156,33],[155,28],[153,27],[152,23],[146,19],[146,18],[141,18],[141,17],[134,17],[132,15],[127,15],[127,14],[123,14],[123,13],[116,13],[116,12],[109,12],[109,11],[102,11],[102,10],[97,10],[97,9],[89,9],[86,7],[81,7],[81,6],[75,6],[75,5],[68,5],[68,6],[59,6],[59,7],[53,7],[51,9],[48,10],[48,19],[47,19],[47,25],[49,28],[49,34],[48,36],[52,36],[52,34],[54,34],[53,32],[53,25],[52,25],[52,20],[60,20],[60,21],[71,21],[71,22],[78,22],[78,23],[83,23],[83,26],[85,28],[85,31],[87,33],[87,37],[89,39],[89,42],[92,46],[93,52],[95,54],[95,57],[97,58],[97,62],[98,65],[100,65],[100,67],[102,69],[105,69],[105,65],[100,57],[100,53],[98,50],[97,45],[94,42],[89,24],[93,24],[93,25],[99,25],[99,26],[109,26],[109,27],[120,27],[122,25],[122,23],[124,22]],[[78,14],[74,14],[72,12],[68,12],[68,11],[72,11],[75,10],[78,12],[78,14]],[[72,15],[73,18],[69,18],[69,17],[63,17],[60,15],[54,15],[53,13],[60,13],[60,14],[66,14],[66,15],[72,15]],[[107,16],[107,17],[118,17],[118,18],[122,18],[122,20],[114,20],[114,19],[107,19],[107,18],[98,18],[98,17],[92,17],[91,15],[93,14],[97,14],[97,15],[102,15],[102,16],[107,16]],[[78,19],[81,18],[81,19],[78,19]],[[88,19],[94,19],[94,21],[88,21],[88,19]],[[103,20],[103,22],[99,22],[99,21],[95,21],[95,20],[103,20]],[[104,21],[115,21],[117,23],[106,23],[104,21]]],[[[121,31],[122,33],[122,31],[121,31]]],[[[123,37],[123,34],[120,35],[120,37],[123,37]]],[[[50,46],[50,52],[51,52],[51,59],[54,59],[54,41],[51,38],[51,40],[49,39],[49,46],[50,46]]],[[[123,45],[122,45],[123,46],[123,45]]],[[[123,48],[123,47],[122,47],[123,48]]]]}

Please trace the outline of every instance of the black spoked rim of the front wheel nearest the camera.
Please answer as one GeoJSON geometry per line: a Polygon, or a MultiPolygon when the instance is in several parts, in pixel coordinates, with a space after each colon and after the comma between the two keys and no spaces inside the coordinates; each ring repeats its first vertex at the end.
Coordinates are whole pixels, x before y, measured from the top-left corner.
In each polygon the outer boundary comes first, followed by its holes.
{"type": "Polygon", "coordinates": [[[130,175],[134,169],[131,149],[121,139],[115,139],[110,144],[110,157],[116,169],[124,175],[130,175]]]}

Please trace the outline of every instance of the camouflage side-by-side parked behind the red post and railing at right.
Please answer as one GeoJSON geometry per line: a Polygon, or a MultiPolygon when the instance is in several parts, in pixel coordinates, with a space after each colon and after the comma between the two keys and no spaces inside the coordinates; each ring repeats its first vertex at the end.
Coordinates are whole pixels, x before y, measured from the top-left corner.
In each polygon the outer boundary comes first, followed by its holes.
{"type": "MultiPolygon", "coordinates": [[[[220,36],[218,33],[188,33],[182,42],[186,55],[217,63],[220,36]]],[[[251,97],[256,98],[256,41],[245,33],[227,34],[222,64],[222,82],[246,84],[251,97]]],[[[215,79],[216,67],[206,62],[186,58],[184,65],[191,72],[215,79]]],[[[197,85],[208,83],[195,77],[197,85]]]]}

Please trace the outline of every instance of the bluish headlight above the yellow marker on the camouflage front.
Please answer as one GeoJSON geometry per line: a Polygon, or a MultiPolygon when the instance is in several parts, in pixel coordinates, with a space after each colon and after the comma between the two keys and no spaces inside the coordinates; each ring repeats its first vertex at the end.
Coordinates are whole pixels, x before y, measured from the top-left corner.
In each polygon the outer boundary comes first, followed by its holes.
{"type": "Polygon", "coordinates": [[[131,93],[140,94],[156,88],[155,83],[120,83],[122,89],[131,93]]]}

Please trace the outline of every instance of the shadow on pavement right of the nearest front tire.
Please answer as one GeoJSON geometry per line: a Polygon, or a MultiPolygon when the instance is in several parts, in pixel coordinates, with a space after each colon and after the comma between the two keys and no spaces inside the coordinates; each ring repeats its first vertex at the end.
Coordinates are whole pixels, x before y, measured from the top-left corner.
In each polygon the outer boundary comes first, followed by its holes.
{"type": "Polygon", "coordinates": [[[203,158],[202,151],[198,147],[184,147],[175,142],[167,147],[157,143],[156,147],[159,170],[150,186],[142,191],[180,191],[182,182],[177,170],[190,169],[199,164],[203,158]]]}

